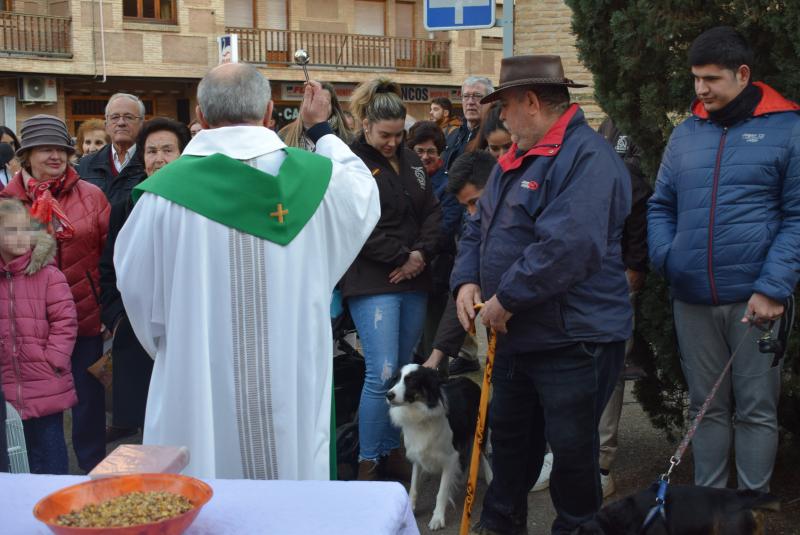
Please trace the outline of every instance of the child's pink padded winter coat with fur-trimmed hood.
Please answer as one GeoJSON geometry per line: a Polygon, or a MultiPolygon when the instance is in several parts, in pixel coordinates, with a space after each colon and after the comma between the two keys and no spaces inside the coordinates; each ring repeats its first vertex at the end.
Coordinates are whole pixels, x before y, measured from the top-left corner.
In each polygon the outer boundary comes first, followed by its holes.
{"type": "Polygon", "coordinates": [[[51,265],[55,254],[55,240],[39,232],[31,252],[0,259],[3,394],[23,420],[78,402],[70,360],[78,318],[67,279],[51,265]]]}

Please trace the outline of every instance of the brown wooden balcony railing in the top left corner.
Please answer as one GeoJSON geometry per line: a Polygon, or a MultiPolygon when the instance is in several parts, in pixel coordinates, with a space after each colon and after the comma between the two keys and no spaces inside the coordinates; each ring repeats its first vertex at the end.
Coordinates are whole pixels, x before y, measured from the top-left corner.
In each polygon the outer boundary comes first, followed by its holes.
{"type": "Polygon", "coordinates": [[[72,57],[72,19],[0,11],[0,54],[72,57]]]}

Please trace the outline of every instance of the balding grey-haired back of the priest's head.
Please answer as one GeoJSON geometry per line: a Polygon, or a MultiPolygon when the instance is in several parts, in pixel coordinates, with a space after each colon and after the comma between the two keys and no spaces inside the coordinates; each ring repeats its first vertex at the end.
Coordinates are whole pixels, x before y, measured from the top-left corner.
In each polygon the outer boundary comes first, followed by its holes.
{"type": "Polygon", "coordinates": [[[212,69],[197,86],[197,103],[211,126],[264,119],[272,91],[258,69],[247,63],[212,69]]]}

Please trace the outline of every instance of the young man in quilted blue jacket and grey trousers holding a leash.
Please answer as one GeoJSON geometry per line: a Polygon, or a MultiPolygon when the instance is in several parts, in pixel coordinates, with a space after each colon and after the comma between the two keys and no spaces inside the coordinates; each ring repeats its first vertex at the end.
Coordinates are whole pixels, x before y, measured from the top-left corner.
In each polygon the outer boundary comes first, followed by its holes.
{"type": "Polygon", "coordinates": [[[780,367],[749,324],[778,320],[797,284],[800,108],[752,81],[753,51],[733,28],[700,35],[689,63],[697,99],[661,161],[650,259],[674,298],[691,417],[739,348],[694,437],[695,483],[727,485],[735,437],[738,487],[768,491],[780,367]]]}

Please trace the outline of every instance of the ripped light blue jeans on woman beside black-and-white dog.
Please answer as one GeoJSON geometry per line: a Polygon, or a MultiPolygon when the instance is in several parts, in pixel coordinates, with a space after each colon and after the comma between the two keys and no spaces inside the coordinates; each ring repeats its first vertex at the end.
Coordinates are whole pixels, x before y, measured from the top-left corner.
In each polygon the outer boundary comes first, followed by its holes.
{"type": "Polygon", "coordinates": [[[358,406],[359,461],[377,461],[400,447],[386,391],[394,373],[411,362],[425,324],[427,298],[425,292],[399,292],[348,299],[367,363],[358,406]]]}

